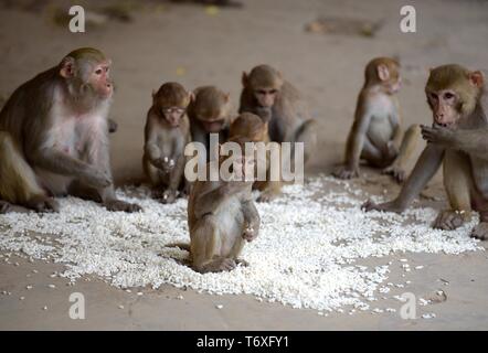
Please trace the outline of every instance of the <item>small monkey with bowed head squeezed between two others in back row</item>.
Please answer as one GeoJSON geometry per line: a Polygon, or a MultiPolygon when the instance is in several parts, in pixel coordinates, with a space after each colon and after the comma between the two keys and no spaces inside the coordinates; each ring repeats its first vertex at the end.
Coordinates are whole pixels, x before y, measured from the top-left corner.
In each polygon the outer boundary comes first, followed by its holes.
{"type": "Polygon", "coordinates": [[[210,156],[210,133],[219,133],[219,143],[229,139],[232,122],[230,95],[214,86],[203,86],[194,92],[194,99],[188,107],[192,141],[201,142],[210,156]]]}

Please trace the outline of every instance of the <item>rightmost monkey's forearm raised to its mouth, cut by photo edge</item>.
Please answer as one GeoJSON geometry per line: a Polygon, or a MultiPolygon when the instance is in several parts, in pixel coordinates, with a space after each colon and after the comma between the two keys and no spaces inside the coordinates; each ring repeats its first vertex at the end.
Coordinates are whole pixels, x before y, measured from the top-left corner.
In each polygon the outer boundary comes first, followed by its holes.
{"type": "Polygon", "coordinates": [[[439,126],[422,126],[422,137],[431,143],[457,149],[488,160],[488,128],[453,130],[439,126]]]}

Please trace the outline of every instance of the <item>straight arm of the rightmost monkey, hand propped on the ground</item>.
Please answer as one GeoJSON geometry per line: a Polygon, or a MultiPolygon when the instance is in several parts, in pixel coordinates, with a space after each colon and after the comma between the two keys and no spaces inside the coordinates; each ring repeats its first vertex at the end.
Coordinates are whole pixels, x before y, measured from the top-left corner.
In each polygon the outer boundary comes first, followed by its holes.
{"type": "Polygon", "coordinates": [[[441,167],[444,152],[445,149],[439,146],[427,145],[395,200],[382,204],[367,201],[362,208],[365,211],[378,210],[397,213],[405,211],[441,167]]]}

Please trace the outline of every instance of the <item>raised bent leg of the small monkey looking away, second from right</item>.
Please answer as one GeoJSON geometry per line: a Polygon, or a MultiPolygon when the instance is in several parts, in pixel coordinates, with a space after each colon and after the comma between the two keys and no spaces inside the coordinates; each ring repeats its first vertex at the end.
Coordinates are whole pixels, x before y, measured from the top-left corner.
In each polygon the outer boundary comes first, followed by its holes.
{"type": "Polygon", "coordinates": [[[390,167],[386,167],[383,170],[383,173],[392,175],[397,182],[403,182],[406,176],[406,163],[411,159],[420,140],[421,127],[414,124],[405,131],[397,157],[390,167]]]}

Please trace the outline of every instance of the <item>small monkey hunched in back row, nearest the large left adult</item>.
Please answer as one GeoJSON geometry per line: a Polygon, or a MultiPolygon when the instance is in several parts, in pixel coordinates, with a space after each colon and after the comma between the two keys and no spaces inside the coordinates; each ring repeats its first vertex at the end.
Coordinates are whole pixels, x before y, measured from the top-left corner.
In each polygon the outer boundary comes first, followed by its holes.
{"type": "Polygon", "coordinates": [[[152,94],[147,114],[142,167],[162,203],[173,203],[178,189],[184,185],[184,147],[190,142],[187,107],[191,98],[180,84],[163,84],[152,94]]]}

